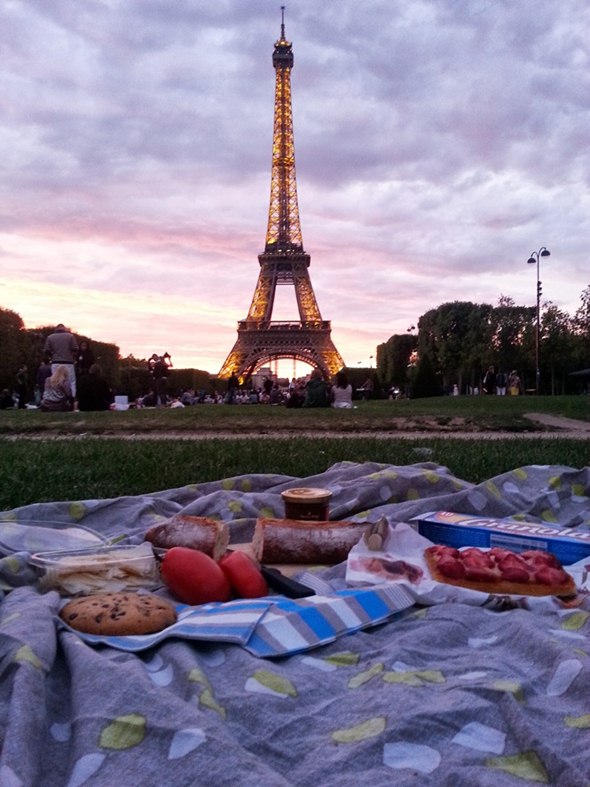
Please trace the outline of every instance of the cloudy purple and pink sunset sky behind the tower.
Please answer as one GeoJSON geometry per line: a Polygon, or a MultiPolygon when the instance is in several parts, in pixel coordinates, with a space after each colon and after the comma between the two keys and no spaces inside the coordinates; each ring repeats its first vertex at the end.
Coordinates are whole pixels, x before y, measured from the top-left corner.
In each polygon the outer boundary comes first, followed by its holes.
{"type": "MultiPolygon", "coordinates": [[[[301,228],[349,366],[590,283],[587,0],[283,0],[301,228]]],[[[264,249],[275,0],[3,0],[0,306],[216,373],[264,249]]],[[[275,319],[296,317],[291,287],[275,319]]]]}

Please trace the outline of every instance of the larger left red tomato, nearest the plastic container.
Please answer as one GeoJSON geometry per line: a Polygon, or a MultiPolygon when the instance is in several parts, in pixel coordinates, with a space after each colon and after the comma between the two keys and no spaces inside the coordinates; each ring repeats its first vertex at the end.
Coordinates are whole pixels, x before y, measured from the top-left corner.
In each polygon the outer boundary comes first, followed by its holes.
{"type": "Polygon", "coordinates": [[[219,565],[197,549],[172,547],[164,555],[160,571],[170,591],[185,604],[230,598],[231,587],[219,565]]]}

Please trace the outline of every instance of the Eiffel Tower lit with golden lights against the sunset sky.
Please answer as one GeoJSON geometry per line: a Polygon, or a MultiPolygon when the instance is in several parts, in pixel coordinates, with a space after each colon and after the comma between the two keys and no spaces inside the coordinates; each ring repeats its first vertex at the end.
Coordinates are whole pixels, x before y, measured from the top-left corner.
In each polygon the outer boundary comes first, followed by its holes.
{"type": "Polygon", "coordinates": [[[272,62],[276,82],[266,245],[258,255],[260,272],[248,316],[238,322],[238,338],[218,377],[235,373],[248,379],[258,367],[278,359],[303,361],[330,377],[342,369],[344,361],[332,342],[330,322],[322,320],[309,278],[310,257],[301,238],[291,109],[293,51],[285,38],[284,6],[272,62]],[[295,288],[298,321],[272,320],[278,285],[295,288]]]}

